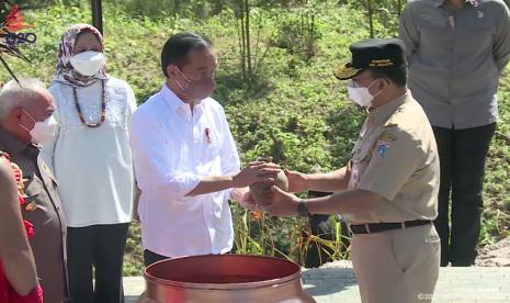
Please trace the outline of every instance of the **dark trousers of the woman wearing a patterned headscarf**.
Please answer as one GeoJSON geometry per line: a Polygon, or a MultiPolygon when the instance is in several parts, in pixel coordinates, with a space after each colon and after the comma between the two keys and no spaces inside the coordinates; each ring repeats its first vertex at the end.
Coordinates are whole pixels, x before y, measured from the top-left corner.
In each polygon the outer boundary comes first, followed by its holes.
{"type": "Polygon", "coordinates": [[[128,223],[68,227],[69,302],[124,302],[122,267],[128,227],[128,223]]]}

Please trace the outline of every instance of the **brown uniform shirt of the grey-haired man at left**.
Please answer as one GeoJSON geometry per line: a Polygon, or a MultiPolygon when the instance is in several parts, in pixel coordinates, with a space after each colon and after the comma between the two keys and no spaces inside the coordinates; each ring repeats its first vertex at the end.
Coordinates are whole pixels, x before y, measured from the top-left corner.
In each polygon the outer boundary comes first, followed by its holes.
{"type": "Polygon", "coordinates": [[[58,199],[56,181],[38,157],[39,148],[25,144],[0,127],[0,150],[8,153],[23,173],[23,218],[34,225],[30,245],[44,302],[63,302],[67,298],[66,222],[58,199]]]}

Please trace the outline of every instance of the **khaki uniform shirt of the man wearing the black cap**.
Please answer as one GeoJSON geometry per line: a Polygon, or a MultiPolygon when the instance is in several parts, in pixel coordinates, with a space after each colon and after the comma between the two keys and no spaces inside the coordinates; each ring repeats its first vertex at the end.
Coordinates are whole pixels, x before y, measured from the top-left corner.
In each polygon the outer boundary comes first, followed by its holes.
{"type": "Polygon", "coordinates": [[[369,113],[350,164],[350,190],[385,198],[377,209],[348,216],[351,223],[438,216],[438,149],[427,115],[410,92],[369,113]]]}

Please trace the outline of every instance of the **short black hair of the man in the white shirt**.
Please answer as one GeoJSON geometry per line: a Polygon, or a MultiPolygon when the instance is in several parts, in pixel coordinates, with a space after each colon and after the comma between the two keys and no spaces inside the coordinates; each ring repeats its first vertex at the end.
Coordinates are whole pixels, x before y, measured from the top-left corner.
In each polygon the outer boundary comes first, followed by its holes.
{"type": "Polygon", "coordinates": [[[188,53],[212,46],[213,43],[207,37],[193,32],[182,32],[171,36],[161,50],[161,69],[165,77],[168,77],[169,65],[182,67],[186,64],[188,53]]]}

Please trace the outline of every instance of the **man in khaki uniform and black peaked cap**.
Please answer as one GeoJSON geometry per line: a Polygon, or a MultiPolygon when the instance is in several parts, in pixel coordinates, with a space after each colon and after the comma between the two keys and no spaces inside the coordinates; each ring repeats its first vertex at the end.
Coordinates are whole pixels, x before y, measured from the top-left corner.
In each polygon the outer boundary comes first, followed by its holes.
{"type": "Polygon", "coordinates": [[[349,98],[369,116],[347,167],[328,173],[286,171],[290,191],[336,191],[299,200],[273,187],[264,210],[274,215],[341,213],[350,221],[351,256],[364,303],[432,299],[439,274],[439,158],[432,128],[406,88],[399,40],[351,45],[349,98]]]}

